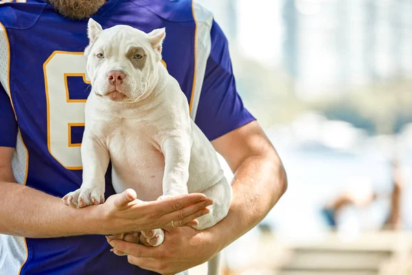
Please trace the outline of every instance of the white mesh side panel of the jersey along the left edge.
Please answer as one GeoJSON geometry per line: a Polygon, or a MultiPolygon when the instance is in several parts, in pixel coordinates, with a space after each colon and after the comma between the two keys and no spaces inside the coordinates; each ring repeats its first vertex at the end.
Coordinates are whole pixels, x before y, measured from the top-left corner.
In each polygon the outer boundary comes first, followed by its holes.
{"type": "MultiPolygon", "coordinates": [[[[8,55],[5,30],[0,23],[0,84],[10,96],[8,87],[8,55]]],[[[17,135],[16,150],[12,159],[13,174],[19,184],[24,184],[27,171],[27,149],[21,139],[20,131],[17,135]]],[[[27,250],[25,240],[21,236],[0,234],[0,275],[17,275],[25,259],[27,250]]]]}

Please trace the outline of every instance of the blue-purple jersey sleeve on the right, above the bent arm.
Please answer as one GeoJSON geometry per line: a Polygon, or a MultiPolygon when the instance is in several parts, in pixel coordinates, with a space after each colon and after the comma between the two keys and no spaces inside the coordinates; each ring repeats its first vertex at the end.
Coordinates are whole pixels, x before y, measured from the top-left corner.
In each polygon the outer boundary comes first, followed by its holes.
{"type": "Polygon", "coordinates": [[[210,36],[211,50],[195,122],[209,140],[214,140],[255,118],[238,94],[228,42],[216,21],[211,25],[210,36]]]}

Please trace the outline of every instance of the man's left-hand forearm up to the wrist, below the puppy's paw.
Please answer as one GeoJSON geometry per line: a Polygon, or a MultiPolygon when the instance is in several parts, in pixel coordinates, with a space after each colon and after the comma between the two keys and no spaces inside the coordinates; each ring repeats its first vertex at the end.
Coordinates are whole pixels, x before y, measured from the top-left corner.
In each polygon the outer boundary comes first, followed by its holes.
{"type": "Polygon", "coordinates": [[[99,206],[71,208],[28,186],[0,182],[0,234],[52,238],[96,234],[99,206]]]}

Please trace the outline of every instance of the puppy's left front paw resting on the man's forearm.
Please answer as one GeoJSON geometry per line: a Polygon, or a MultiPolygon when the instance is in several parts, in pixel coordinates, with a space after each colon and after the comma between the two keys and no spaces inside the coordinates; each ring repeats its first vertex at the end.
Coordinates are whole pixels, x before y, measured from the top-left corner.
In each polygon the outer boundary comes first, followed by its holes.
{"type": "Polygon", "coordinates": [[[98,190],[98,188],[79,188],[62,197],[62,201],[67,206],[75,208],[92,206],[104,203],[104,192],[98,190]]]}

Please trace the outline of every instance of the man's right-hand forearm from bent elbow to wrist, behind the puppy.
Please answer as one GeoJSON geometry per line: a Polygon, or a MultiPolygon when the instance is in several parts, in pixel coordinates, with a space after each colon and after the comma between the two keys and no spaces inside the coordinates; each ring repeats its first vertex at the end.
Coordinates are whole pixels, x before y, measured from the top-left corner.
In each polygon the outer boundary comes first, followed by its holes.
{"type": "Polygon", "coordinates": [[[233,199],[227,217],[210,230],[227,245],[251,230],[286,191],[286,173],[277,155],[251,156],[233,178],[233,199]]]}

